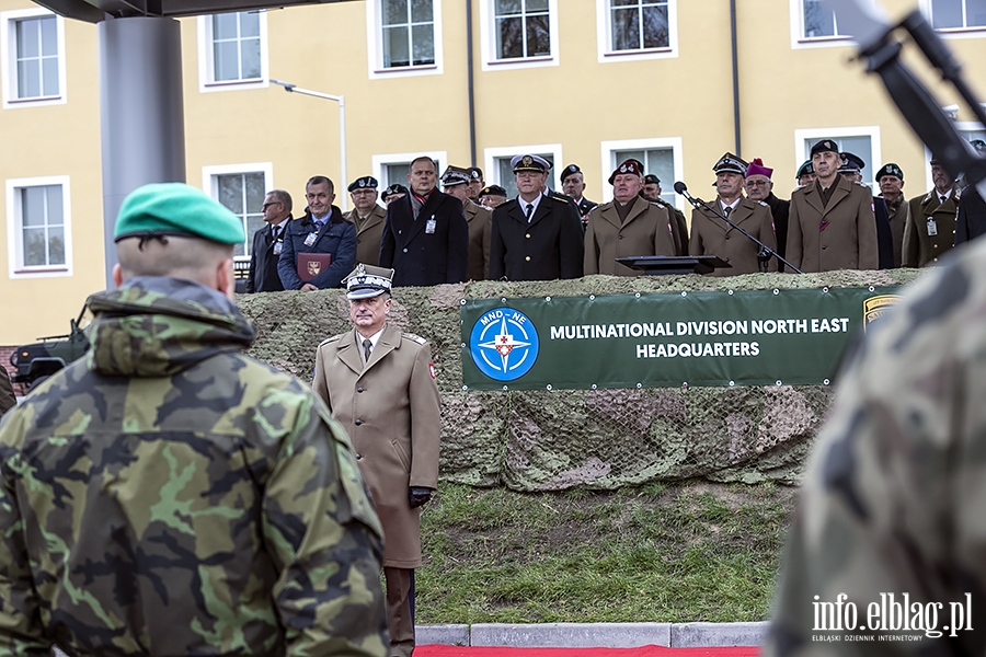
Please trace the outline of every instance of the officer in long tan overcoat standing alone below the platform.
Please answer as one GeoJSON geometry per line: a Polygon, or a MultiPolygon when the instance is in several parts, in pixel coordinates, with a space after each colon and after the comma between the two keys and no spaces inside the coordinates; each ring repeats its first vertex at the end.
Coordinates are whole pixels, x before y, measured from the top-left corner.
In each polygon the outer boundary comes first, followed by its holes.
{"type": "Polygon", "coordinates": [[[392,269],[346,277],[352,331],[319,345],[312,388],[353,441],[383,526],[391,657],[414,650],[420,507],[438,487],[440,400],[428,343],[387,323],[392,269]]]}

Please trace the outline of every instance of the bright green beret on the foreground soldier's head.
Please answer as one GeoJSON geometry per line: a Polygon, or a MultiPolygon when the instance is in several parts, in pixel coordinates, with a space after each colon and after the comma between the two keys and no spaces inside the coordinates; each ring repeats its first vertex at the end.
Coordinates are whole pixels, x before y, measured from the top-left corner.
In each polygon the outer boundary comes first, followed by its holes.
{"type": "Polygon", "coordinates": [[[153,235],[203,238],[220,244],[246,240],[239,217],[184,183],[144,185],[124,199],[113,241],[153,235]]]}

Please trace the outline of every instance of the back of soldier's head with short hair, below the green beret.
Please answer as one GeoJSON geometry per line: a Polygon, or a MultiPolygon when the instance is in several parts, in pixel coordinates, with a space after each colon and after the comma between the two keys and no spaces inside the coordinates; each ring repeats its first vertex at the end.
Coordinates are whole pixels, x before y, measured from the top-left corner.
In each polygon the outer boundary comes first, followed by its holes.
{"type": "Polygon", "coordinates": [[[113,279],[121,283],[135,276],[185,278],[219,290],[232,299],[233,245],[199,238],[124,238],[116,243],[119,264],[113,279]]]}

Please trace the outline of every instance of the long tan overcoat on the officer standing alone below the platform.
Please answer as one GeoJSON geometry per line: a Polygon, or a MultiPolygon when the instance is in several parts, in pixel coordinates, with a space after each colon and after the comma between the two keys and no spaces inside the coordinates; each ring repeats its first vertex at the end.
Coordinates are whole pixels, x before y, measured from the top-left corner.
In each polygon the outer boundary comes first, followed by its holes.
{"type": "Polygon", "coordinates": [[[319,345],[312,388],[342,423],[383,526],[383,566],[421,566],[411,486],[438,488],[438,387],[421,337],[387,325],[363,366],[356,332],[319,345]]]}

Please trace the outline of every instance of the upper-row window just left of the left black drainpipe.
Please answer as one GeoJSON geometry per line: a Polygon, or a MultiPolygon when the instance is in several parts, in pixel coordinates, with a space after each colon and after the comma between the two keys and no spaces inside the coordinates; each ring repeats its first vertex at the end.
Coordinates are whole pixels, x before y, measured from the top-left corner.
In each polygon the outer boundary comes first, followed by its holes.
{"type": "Polygon", "coordinates": [[[432,0],[381,0],[383,68],[435,64],[432,0]]]}

